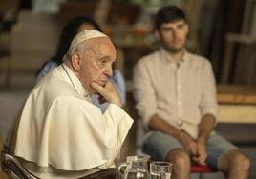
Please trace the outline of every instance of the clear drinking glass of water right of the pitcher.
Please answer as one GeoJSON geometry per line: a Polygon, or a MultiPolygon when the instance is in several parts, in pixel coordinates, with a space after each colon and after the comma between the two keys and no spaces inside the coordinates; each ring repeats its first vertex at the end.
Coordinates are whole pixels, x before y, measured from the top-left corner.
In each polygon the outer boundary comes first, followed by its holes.
{"type": "Polygon", "coordinates": [[[169,162],[151,162],[151,179],[171,179],[173,164],[169,162]]]}

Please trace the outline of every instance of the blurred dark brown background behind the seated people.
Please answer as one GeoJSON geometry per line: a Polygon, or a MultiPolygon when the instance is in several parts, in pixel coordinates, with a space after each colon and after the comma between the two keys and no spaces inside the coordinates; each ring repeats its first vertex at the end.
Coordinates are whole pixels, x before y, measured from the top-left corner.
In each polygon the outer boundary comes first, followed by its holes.
{"type": "Polygon", "coordinates": [[[124,153],[138,152],[141,127],[132,71],[141,56],[158,49],[154,14],[169,4],[186,13],[186,48],[213,66],[222,119],[217,129],[250,156],[250,178],[256,178],[256,0],[1,0],[0,137],[33,88],[36,71],[53,56],[65,23],[84,14],[100,24],[117,48],[116,66],[126,80],[125,109],[136,120],[124,153]]]}

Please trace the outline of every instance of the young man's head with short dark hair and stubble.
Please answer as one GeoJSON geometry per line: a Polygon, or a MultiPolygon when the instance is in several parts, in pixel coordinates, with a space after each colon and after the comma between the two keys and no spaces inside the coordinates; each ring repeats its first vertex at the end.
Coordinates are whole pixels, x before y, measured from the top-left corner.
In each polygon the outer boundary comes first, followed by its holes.
{"type": "Polygon", "coordinates": [[[155,32],[165,50],[170,53],[180,52],[188,33],[184,12],[172,5],[161,8],[156,14],[155,32]]]}

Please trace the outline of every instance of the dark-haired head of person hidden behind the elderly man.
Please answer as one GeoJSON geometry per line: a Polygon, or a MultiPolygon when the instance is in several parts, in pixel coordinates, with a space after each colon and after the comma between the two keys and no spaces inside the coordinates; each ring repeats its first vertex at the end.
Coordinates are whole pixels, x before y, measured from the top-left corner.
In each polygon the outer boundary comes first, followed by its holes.
{"type": "Polygon", "coordinates": [[[98,30],[101,28],[96,21],[85,15],[78,15],[71,19],[63,28],[53,60],[58,64],[62,63],[62,57],[68,52],[75,35],[81,30],[98,30]]]}

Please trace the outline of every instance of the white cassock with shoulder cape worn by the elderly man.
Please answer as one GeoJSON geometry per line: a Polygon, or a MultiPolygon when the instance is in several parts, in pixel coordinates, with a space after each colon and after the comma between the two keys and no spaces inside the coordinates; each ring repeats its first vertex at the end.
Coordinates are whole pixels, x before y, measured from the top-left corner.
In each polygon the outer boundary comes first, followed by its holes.
{"type": "Polygon", "coordinates": [[[53,168],[65,174],[51,171],[49,177],[73,178],[113,166],[132,123],[115,104],[102,114],[75,73],[63,64],[32,89],[7,141],[25,166],[36,164],[32,172],[48,177],[47,170],[53,168]]]}

